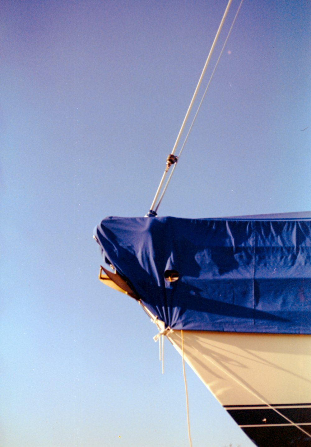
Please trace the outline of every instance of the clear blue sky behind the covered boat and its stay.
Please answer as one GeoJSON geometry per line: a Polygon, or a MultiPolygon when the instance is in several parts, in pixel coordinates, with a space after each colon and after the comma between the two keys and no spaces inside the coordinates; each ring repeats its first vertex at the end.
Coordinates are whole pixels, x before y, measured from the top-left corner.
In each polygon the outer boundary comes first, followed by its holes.
{"type": "MultiPolygon", "coordinates": [[[[148,211],[226,4],[2,1],[2,447],[189,445],[181,358],[166,343],[161,374],[92,230],[148,211]]],[[[244,0],[160,215],[311,209],[310,21],[307,0],[244,0]]],[[[187,380],[193,447],[251,447],[187,380]]]]}

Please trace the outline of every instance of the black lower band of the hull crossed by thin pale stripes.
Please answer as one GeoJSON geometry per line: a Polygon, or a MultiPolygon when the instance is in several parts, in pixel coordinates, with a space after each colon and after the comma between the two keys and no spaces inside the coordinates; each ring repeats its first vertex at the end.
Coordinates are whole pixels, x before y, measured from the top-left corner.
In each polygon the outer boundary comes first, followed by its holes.
{"type": "Polygon", "coordinates": [[[311,447],[311,404],[227,405],[227,412],[258,447],[311,447]],[[281,413],[281,414],[279,414],[281,413]],[[282,417],[284,415],[284,417],[282,417]]]}

